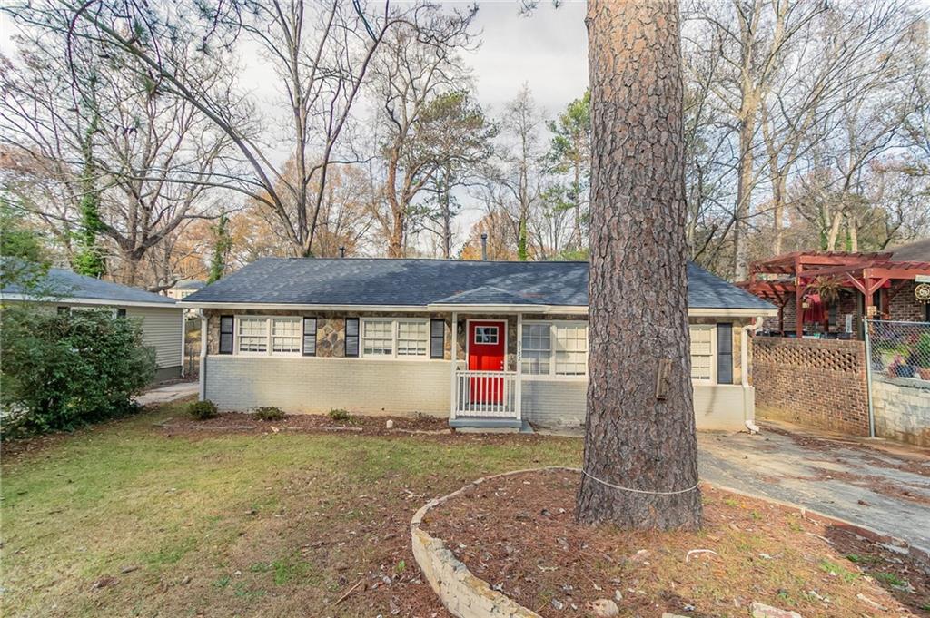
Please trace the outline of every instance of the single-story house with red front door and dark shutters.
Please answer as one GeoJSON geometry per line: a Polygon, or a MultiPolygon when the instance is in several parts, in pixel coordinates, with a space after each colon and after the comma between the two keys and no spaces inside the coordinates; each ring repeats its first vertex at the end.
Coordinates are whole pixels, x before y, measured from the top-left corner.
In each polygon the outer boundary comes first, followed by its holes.
{"type": "MultiPolygon", "coordinates": [[[[743,427],[748,331],[777,309],[697,266],[688,275],[697,427],[743,427]]],[[[181,305],[199,310],[200,396],[221,409],[584,422],[585,262],[269,257],[181,305]]]]}

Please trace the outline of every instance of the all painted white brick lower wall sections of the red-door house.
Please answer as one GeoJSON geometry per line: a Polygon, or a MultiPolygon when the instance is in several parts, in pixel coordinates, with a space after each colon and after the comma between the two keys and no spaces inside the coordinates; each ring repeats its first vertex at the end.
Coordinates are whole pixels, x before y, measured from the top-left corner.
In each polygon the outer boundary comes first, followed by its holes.
{"type": "MultiPolygon", "coordinates": [[[[290,413],[344,408],[446,417],[450,371],[449,361],[215,355],[206,359],[206,399],[221,410],[274,405],[290,413]]],[[[587,393],[584,380],[525,380],[524,418],[543,427],[583,426],[587,393]]],[[[739,385],[695,385],[697,428],[742,428],[753,416],[753,396],[739,385]]]]}

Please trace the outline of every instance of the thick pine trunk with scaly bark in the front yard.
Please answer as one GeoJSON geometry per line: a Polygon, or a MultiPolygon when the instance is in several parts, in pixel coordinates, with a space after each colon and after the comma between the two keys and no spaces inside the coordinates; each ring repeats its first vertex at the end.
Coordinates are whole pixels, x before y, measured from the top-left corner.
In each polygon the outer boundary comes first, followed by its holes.
{"type": "Polygon", "coordinates": [[[590,378],[579,521],[696,528],[677,2],[589,0],[590,378]],[[669,363],[663,399],[657,376],[669,363]],[[591,475],[591,476],[588,476],[591,475]]]}

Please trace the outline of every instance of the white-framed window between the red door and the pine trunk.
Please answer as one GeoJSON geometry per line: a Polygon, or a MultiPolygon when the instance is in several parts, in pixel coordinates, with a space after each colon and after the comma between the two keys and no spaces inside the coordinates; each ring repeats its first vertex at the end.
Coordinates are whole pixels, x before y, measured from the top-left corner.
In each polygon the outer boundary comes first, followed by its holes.
{"type": "Polygon", "coordinates": [[[588,375],[588,322],[524,322],[524,375],[588,375]]]}

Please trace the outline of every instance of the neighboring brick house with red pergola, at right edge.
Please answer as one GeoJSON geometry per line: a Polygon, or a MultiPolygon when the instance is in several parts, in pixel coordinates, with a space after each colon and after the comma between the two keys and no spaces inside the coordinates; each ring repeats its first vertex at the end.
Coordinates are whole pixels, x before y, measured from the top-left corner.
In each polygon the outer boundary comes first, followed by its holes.
{"type": "Polygon", "coordinates": [[[930,240],[924,240],[881,253],[783,254],[753,262],[749,279],[738,285],[777,306],[767,332],[855,339],[867,315],[930,322],[930,304],[922,298],[928,281],[930,240]]]}

